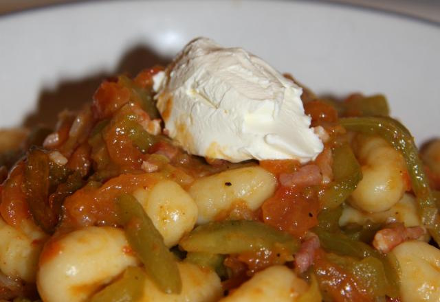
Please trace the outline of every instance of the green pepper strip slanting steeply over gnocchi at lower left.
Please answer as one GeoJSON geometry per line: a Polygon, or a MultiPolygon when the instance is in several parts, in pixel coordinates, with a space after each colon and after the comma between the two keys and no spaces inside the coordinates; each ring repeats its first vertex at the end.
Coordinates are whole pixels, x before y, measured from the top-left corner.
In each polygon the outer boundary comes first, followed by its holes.
{"type": "Polygon", "coordinates": [[[164,238],[154,227],[142,205],[127,194],[120,196],[117,204],[127,240],[144,264],[148,276],[163,292],[179,294],[181,279],[175,257],[168,251],[164,238]]]}

